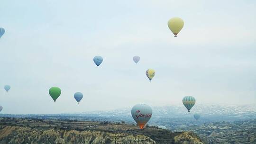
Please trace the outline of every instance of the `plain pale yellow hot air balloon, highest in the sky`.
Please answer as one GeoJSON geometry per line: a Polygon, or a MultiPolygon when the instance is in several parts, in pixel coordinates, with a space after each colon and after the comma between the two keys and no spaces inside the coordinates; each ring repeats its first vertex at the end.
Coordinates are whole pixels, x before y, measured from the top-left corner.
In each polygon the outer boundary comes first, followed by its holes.
{"type": "Polygon", "coordinates": [[[184,22],[181,18],[171,18],[168,21],[168,27],[174,33],[174,37],[177,37],[183,26],[184,22]]]}

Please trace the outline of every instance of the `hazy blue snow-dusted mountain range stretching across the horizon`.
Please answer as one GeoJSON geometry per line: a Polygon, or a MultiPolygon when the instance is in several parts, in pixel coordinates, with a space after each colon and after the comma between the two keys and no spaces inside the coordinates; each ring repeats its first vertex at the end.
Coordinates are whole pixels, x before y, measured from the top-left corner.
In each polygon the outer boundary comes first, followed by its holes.
{"type": "MultiPolygon", "coordinates": [[[[152,107],[153,115],[148,124],[150,126],[166,126],[169,129],[181,129],[182,127],[202,125],[208,122],[241,121],[256,119],[255,105],[202,105],[197,104],[191,112],[183,105],[152,107]],[[196,121],[194,113],[201,115],[196,121]]],[[[52,114],[52,115],[11,115],[0,114],[0,117],[30,117],[37,119],[69,119],[80,121],[125,121],[134,124],[131,117],[131,108],[120,108],[108,111],[90,111],[74,114],[52,114]]]]}

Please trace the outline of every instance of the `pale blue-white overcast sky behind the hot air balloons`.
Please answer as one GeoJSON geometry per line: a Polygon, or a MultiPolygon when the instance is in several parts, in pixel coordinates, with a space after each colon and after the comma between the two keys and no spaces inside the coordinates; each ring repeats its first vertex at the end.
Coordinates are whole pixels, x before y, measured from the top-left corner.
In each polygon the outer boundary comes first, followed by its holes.
{"type": "Polygon", "coordinates": [[[255,0],[1,0],[0,27],[1,113],[164,106],[186,95],[256,103],[255,0]],[[177,38],[173,17],[184,20],[177,38]],[[62,90],[56,103],[53,86],[62,90]]]}

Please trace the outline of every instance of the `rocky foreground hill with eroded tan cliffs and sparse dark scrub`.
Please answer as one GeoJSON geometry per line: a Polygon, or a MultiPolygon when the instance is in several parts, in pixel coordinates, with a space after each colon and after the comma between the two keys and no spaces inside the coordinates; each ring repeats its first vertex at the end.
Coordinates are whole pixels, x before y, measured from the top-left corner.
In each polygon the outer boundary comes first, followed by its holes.
{"type": "Polygon", "coordinates": [[[0,144],[203,144],[191,132],[109,122],[0,118],[0,144]]]}

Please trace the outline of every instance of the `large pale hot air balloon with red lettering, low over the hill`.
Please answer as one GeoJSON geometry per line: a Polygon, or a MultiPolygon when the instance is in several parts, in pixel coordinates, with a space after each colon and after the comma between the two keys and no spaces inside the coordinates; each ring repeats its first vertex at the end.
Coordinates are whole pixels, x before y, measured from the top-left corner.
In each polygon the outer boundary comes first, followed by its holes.
{"type": "Polygon", "coordinates": [[[137,104],[132,107],[131,115],[140,129],[143,129],[152,116],[152,109],[146,104],[137,104]]]}

